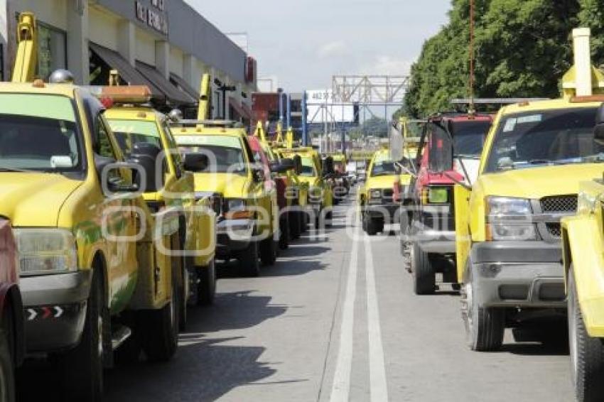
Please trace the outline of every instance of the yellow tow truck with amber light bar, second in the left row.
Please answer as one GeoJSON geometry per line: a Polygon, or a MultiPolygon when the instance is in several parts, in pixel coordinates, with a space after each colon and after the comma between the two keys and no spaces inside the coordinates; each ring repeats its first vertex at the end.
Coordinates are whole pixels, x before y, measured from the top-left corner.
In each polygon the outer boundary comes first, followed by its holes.
{"type": "MultiPolygon", "coordinates": [[[[179,212],[182,244],[178,254],[187,268],[186,278],[180,281],[181,291],[193,304],[212,304],[216,292],[216,211],[210,197],[195,195],[193,173],[188,171],[203,168],[207,161],[180,156],[168,127],[171,120],[149,105],[149,88],[97,87],[94,93],[114,101],[105,117],[124,154],[144,152],[150,161],[162,161],[160,177],[148,178],[144,200],[153,212],[166,208],[179,212]]],[[[181,304],[180,323],[182,330],[186,303],[181,304]]]]}

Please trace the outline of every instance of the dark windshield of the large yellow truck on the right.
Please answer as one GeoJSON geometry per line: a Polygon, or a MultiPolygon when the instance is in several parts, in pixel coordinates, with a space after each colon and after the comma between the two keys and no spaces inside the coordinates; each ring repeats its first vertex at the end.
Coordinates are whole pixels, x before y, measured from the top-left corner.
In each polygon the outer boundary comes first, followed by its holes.
{"type": "Polygon", "coordinates": [[[505,116],[485,171],[604,161],[593,140],[595,108],[559,109],[505,116]]]}

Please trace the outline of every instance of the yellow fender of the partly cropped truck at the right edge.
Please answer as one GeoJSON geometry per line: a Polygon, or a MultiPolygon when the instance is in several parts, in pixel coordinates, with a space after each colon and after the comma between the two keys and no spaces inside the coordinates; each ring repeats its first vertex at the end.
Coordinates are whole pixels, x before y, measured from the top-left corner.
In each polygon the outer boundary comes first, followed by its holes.
{"type": "Polygon", "coordinates": [[[590,337],[604,337],[604,250],[602,228],[595,216],[563,218],[562,246],[565,283],[572,264],[587,332],[590,337]]]}

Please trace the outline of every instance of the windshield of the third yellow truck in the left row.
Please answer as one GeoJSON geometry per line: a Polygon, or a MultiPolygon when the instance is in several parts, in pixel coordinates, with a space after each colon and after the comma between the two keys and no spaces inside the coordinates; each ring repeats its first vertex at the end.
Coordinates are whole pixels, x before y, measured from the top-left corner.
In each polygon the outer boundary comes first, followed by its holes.
{"type": "MultiPolygon", "coordinates": [[[[176,143],[183,153],[205,153],[209,163],[205,173],[247,174],[247,163],[239,138],[234,136],[200,135],[176,136],[176,143]]],[[[203,172],[200,172],[203,173],[203,172]]]]}

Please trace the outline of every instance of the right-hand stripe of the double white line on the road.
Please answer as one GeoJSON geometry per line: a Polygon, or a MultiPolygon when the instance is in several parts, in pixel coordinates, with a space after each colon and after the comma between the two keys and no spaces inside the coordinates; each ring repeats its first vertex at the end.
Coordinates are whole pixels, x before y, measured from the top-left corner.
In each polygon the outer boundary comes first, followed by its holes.
{"type": "Polygon", "coordinates": [[[375,271],[369,237],[365,237],[365,281],[367,287],[367,331],[369,332],[369,369],[370,391],[372,402],[388,401],[386,383],[386,365],[384,364],[384,347],[382,347],[382,330],[379,325],[379,307],[375,287],[375,271]]]}

